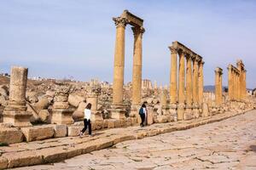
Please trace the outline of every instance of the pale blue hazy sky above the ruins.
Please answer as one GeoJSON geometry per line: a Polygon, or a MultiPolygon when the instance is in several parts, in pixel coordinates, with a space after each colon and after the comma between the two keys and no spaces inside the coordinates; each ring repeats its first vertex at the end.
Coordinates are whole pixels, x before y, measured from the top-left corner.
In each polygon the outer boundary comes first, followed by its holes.
{"type": "MultiPolygon", "coordinates": [[[[143,79],[168,85],[174,41],[205,61],[204,84],[214,69],[242,59],[247,88],[256,88],[256,1],[253,0],[0,0],[0,72],[28,67],[29,77],[98,78],[113,82],[116,28],[128,9],[144,20],[143,79]]],[[[133,34],[125,28],[125,82],[132,77],[133,34]]]]}

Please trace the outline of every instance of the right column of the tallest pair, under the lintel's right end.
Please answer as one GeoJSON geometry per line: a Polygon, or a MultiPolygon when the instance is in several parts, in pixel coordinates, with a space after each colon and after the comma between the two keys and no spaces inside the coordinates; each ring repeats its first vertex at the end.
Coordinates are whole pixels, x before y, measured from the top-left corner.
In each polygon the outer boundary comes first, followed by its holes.
{"type": "Polygon", "coordinates": [[[134,34],[132,104],[140,105],[142,98],[143,27],[132,27],[134,34]]]}

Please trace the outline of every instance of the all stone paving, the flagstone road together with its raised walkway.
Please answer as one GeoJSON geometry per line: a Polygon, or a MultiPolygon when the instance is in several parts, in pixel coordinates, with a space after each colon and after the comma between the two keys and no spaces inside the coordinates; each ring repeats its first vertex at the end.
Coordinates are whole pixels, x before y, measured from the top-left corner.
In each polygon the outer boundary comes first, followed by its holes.
{"type": "MultiPolygon", "coordinates": [[[[225,166],[224,162],[229,162],[228,167],[230,167],[233,164],[238,164],[237,160],[241,162],[255,160],[253,151],[250,151],[255,147],[255,143],[247,145],[247,151],[244,150],[245,144],[253,140],[255,142],[255,133],[253,133],[253,131],[255,132],[255,111],[248,112],[243,116],[236,116],[239,114],[241,113],[226,112],[212,117],[201,117],[197,120],[154,124],[143,128],[114,128],[96,132],[92,138],[69,137],[10,144],[10,147],[0,148],[2,152],[0,166],[2,168],[3,166],[24,167],[62,161],[85,154],[82,158],[76,157],[68,160],[67,164],[55,163],[53,168],[62,169],[61,166],[67,169],[78,169],[79,166],[82,169],[128,168],[141,170],[154,167],[155,169],[183,168],[183,166],[204,168],[206,166],[225,166]],[[236,117],[218,122],[232,116],[236,117]],[[210,122],[218,123],[198,127],[210,122]],[[197,128],[170,133],[190,127],[197,128]],[[143,139],[160,133],[166,134],[143,139]],[[125,140],[131,141],[123,142],[125,140]],[[119,144],[120,142],[123,143],[119,144]],[[224,143],[222,144],[222,142],[224,143]],[[111,146],[116,149],[102,150],[111,146]],[[239,153],[238,155],[236,155],[236,151],[239,153]],[[243,158],[240,157],[241,155],[243,158]],[[78,161],[76,161],[77,159],[78,161]],[[70,163],[68,163],[69,161],[70,163]]],[[[243,163],[240,166],[243,166],[243,163]]],[[[44,165],[21,169],[49,169],[50,167],[52,166],[44,165]]]]}

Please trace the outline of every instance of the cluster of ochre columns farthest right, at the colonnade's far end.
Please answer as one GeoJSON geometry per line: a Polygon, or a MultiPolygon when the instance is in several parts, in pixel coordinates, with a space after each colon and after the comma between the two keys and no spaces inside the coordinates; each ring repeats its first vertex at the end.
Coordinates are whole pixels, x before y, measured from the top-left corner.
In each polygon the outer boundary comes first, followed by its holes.
{"type": "Polygon", "coordinates": [[[238,60],[237,68],[234,65],[228,66],[229,72],[229,97],[230,100],[241,101],[245,99],[246,89],[246,70],[241,60],[238,60]]]}

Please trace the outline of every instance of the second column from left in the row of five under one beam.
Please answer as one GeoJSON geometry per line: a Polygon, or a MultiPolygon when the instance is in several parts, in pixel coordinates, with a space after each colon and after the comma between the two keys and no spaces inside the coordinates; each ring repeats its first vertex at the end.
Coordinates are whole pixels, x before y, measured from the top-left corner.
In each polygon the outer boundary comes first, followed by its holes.
{"type": "Polygon", "coordinates": [[[184,95],[185,88],[185,53],[179,54],[179,67],[178,67],[178,107],[177,107],[177,120],[183,120],[184,113],[184,95]]]}

